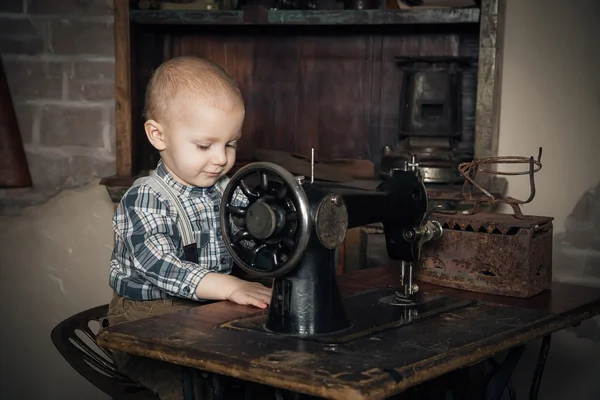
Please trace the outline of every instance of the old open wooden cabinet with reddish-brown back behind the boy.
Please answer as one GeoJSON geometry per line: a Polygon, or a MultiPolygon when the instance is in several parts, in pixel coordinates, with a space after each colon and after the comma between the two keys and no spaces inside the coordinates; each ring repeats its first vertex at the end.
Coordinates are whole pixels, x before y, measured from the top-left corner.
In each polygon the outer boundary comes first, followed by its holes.
{"type": "Polygon", "coordinates": [[[496,155],[501,0],[477,8],[375,10],[136,9],[115,2],[117,175],[103,184],[118,200],[153,168],[143,131],[146,83],[161,62],[207,57],[238,82],[247,119],[238,159],[254,148],[370,159],[396,140],[401,71],[395,57],[469,56],[466,113],[477,157],[496,155]]]}

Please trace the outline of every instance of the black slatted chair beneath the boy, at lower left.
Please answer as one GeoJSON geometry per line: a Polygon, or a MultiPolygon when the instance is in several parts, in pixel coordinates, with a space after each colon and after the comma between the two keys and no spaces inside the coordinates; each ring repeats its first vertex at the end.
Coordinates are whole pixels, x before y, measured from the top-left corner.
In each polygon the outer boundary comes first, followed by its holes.
{"type": "Polygon", "coordinates": [[[52,343],[75,371],[113,399],[158,400],[152,391],[119,373],[110,351],[96,345],[97,332],[90,322],[100,324],[107,312],[105,304],[67,318],[52,329],[52,343]]]}

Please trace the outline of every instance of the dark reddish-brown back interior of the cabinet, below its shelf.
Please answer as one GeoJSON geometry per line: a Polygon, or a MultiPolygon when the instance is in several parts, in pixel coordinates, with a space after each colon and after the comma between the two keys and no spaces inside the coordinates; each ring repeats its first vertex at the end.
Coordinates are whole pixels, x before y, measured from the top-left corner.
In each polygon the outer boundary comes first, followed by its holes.
{"type": "MultiPolygon", "coordinates": [[[[148,27],[136,32],[143,28],[148,27]]],[[[476,28],[152,26],[135,53],[140,60],[137,102],[143,101],[149,73],[163,59],[207,57],[231,73],[246,101],[238,159],[250,160],[255,148],[304,155],[315,148],[321,160],[368,159],[378,164],[381,148],[397,142],[402,71],[395,57],[476,58],[476,28]],[[164,55],[156,54],[160,45],[150,35],[164,36],[164,55]]],[[[463,108],[471,117],[463,134],[472,146],[475,69],[464,85],[463,108]]],[[[152,168],[157,154],[146,143],[141,121],[134,130],[139,138],[135,152],[143,157],[136,163],[139,172],[152,168]]]]}

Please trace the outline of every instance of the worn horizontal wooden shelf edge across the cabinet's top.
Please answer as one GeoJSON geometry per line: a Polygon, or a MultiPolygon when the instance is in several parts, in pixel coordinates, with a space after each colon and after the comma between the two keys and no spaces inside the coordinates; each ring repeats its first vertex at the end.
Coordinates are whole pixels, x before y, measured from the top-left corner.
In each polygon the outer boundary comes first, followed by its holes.
{"type": "Polygon", "coordinates": [[[168,25],[419,25],[477,24],[479,8],[430,10],[130,10],[137,24],[168,25]]]}

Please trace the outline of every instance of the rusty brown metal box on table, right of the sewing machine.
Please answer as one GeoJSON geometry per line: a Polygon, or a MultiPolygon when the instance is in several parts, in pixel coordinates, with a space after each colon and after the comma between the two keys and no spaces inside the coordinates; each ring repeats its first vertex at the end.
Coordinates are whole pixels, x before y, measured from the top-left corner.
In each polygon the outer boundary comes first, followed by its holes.
{"type": "Polygon", "coordinates": [[[551,217],[443,214],[440,239],[423,245],[416,279],[487,294],[531,297],[552,284],[551,217]]]}

